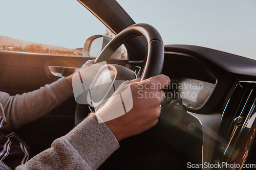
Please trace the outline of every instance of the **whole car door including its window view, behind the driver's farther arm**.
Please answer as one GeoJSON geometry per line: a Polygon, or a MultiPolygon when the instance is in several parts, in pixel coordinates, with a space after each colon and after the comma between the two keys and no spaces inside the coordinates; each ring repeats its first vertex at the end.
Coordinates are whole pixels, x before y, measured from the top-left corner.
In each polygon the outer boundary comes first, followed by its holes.
{"type": "MultiPolygon", "coordinates": [[[[1,15],[7,17],[0,28],[0,91],[10,95],[33,91],[71,75],[92,59],[81,54],[86,39],[106,31],[77,1],[38,3],[6,1],[1,5],[1,15]]],[[[74,127],[75,108],[72,96],[50,114],[15,132],[34,156],[74,127]]]]}

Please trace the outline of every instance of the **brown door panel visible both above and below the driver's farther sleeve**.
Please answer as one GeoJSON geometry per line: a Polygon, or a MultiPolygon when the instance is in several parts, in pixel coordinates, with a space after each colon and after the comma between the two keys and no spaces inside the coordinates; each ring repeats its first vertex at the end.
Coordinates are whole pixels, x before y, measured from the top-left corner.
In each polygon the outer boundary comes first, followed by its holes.
{"type": "MultiPolygon", "coordinates": [[[[89,59],[0,51],[0,90],[15,95],[39,89],[59,79],[48,66],[81,67],[89,59]]],[[[72,96],[50,114],[15,130],[31,148],[32,156],[74,127],[75,107],[72,96]]]]}

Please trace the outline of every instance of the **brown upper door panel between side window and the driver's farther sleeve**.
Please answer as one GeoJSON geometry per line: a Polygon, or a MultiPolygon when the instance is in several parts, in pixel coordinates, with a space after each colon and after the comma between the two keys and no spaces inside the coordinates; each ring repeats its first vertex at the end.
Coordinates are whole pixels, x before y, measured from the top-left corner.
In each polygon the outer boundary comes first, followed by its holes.
{"type": "Polygon", "coordinates": [[[11,94],[36,90],[59,79],[48,65],[81,67],[89,59],[0,51],[0,90],[11,94]]]}

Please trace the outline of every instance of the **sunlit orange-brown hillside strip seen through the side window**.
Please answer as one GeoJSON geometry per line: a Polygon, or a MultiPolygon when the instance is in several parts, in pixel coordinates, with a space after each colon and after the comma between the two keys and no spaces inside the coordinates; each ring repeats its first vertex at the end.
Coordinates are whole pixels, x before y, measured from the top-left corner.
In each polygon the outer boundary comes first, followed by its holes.
{"type": "Polygon", "coordinates": [[[64,56],[81,56],[81,54],[77,53],[77,50],[75,49],[24,41],[7,36],[0,36],[0,50],[64,56]]]}

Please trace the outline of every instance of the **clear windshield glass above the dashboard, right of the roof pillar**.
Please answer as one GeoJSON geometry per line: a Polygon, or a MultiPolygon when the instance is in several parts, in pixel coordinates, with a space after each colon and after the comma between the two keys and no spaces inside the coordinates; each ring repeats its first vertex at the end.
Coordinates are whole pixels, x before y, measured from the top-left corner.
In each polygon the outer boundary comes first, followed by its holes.
{"type": "Polygon", "coordinates": [[[164,44],[199,45],[256,59],[256,1],[117,2],[136,23],[154,26],[164,44]]]}

